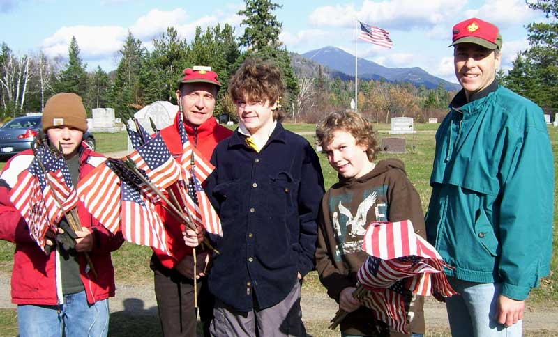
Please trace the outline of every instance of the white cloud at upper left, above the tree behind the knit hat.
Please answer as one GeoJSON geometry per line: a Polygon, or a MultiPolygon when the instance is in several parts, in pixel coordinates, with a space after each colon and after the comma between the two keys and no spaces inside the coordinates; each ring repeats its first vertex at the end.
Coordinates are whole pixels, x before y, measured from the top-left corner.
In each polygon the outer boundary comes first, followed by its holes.
{"type": "Polygon", "coordinates": [[[50,57],[67,57],[68,45],[75,36],[82,58],[99,58],[119,50],[127,34],[120,26],[64,26],[43,41],[42,49],[50,57]]]}

